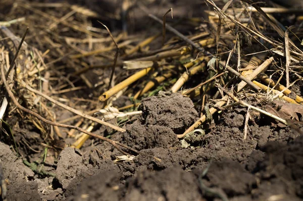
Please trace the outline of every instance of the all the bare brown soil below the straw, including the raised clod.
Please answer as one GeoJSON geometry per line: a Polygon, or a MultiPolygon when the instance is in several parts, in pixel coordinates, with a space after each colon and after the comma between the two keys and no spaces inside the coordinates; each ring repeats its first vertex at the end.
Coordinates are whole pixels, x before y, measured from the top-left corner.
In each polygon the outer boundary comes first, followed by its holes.
{"type": "MultiPolygon", "coordinates": [[[[161,162],[138,155],[131,161],[115,164],[110,157],[121,154],[113,149],[105,154],[109,158],[103,159],[91,148],[82,151],[65,148],[58,160],[56,178],[45,181],[34,179],[34,173],[9,146],[1,144],[8,200],[217,199],[216,194],[201,188],[200,182],[230,200],[303,198],[303,137],[281,139],[281,133],[289,138],[295,135],[294,131],[278,132],[270,125],[250,125],[249,138],[243,141],[245,109],[238,107],[218,116],[219,123],[204,136],[203,144],[183,149],[173,129],[182,130],[196,120],[197,112],[190,99],[180,94],[160,93],[143,99],[141,108],[141,121],[133,123],[117,138],[161,158],[161,162]],[[162,108],[166,108],[165,113],[162,108]],[[173,118],[172,114],[180,111],[183,119],[173,118]],[[276,135],[280,136],[279,140],[268,142],[276,135]],[[207,168],[200,181],[199,176],[207,168]],[[58,188],[47,189],[48,182],[57,183],[58,188]]],[[[105,145],[94,149],[104,150],[105,145]]]]}

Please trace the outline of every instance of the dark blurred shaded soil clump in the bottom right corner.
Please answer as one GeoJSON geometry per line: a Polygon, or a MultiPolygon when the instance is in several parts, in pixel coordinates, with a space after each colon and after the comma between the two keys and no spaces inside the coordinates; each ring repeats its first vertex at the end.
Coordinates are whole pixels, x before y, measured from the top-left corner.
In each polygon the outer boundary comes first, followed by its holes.
{"type": "Polygon", "coordinates": [[[288,200],[293,200],[294,195],[303,198],[303,136],[287,145],[269,142],[261,151],[266,155],[256,169],[263,182],[255,196],[263,199],[269,193],[279,193],[285,195],[285,200],[288,195],[288,200]]]}

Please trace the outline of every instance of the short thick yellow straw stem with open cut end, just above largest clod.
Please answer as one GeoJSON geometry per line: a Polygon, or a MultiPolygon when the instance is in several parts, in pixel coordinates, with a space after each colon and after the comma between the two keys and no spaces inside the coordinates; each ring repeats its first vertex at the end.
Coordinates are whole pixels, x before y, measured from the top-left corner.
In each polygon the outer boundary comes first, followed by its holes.
{"type": "Polygon", "coordinates": [[[146,69],[143,69],[143,70],[135,73],[134,75],[132,75],[129,78],[127,78],[126,80],[122,81],[121,83],[119,83],[115,87],[113,87],[110,90],[104,92],[101,96],[99,96],[99,100],[100,101],[106,101],[107,99],[109,99],[113,95],[117,94],[122,89],[128,87],[129,85],[131,85],[135,81],[139,80],[140,78],[142,78],[143,76],[145,76],[146,74],[148,74],[148,72],[151,69],[152,68],[150,67],[150,68],[146,68],[146,69]]]}

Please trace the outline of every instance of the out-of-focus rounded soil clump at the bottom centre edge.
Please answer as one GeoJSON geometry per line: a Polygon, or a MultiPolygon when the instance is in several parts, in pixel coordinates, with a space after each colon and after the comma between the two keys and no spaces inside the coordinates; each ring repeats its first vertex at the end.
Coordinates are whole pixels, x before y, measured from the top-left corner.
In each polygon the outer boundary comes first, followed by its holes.
{"type": "Polygon", "coordinates": [[[125,200],[200,200],[197,179],[180,167],[143,171],[126,183],[125,200]]]}

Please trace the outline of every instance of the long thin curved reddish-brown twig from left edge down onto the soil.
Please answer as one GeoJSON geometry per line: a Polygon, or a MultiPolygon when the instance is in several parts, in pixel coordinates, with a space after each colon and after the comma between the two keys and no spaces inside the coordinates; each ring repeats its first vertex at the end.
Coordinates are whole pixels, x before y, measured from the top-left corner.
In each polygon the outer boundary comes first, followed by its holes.
{"type": "Polygon", "coordinates": [[[33,111],[31,111],[31,110],[29,110],[29,109],[23,107],[22,105],[20,105],[20,104],[18,103],[18,101],[17,101],[17,99],[15,98],[13,92],[10,90],[10,87],[9,87],[9,85],[8,85],[8,83],[7,83],[6,78],[5,78],[5,74],[4,74],[4,65],[1,65],[1,78],[2,78],[2,80],[3,80],[3,83],[4,83],[4,85],[5,85],[5,88],[6,88],[7,92],[8,92],[8,94],[9,94],[10,98],[13,100],[13,102],[15,103],[15,105],[16,105],[20,110],[22,110],[22,111],[24,111],[24,112],[27,112],[27,113],[29,113],[29,114],[31,114],[31,115],[37,117],[37,118],[40,119],[41,121],[43,121],[43,122],[45,122],[45,123],[47,123],[47,124],[51,124],[51,125],[55,125],[55,126],[59,126],[59,127],[65,127],[65,128],[76,129],[76,130],[78,130],[78,131],[80,131],[80,132],[83,132],[83,133],[89,135],[89,136],[92,136],[92,137],[94,137],[94,138],[97,138],[97,139],[106,141],[106,142],[110,143],[111,145],[113,145],[119,152],[121,152],[121,153],[123,153],[123,154],[124,154],[125,152],[122,151],[122,150],[118,147],[118,145],[121,146],[121,147],[124,147],[124,148],[126,148],[126,149],[128,149],[128,150],[131,150],[131,151],[133,151],[133,152],[135,152],[135,153],[137,153],[137,154],[142,154],[142,155],[145,155],[145,156],[154,158],[154,159],[157,160],[157,161],[161,161],[161,159],[159,159],[158,157],[151,156],[151,155],[149,155],[149,154],[146,154],[146,153],[137,151],[137,150],[135,150],[135,149],[133,149],[133,148],[131,148],[131,147],[128,147],[128,146],[122,144],[122,143],[119,143],[119,142],[117,142],[117,141],[114,141],[114,140],[105,138],[105,137],[103,137],[103,136],[98,136],[98,135],[96,135],[96,134],[94,134],[94,133],[92,133],[92,132],[88,132],[88,131],[86,131],[86,130],[80,128],[80,127],[76,127],[76,126],[73,126],[73,125],[67,125],[67,124],[56,123],[56,122],[49,121],[49,120],[43,118],[43,117],[40,116],[39,114],[37,114],[37,113],[35,113],[35,112],[33,112],[33,111]]]}

